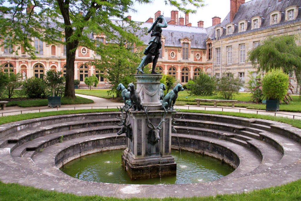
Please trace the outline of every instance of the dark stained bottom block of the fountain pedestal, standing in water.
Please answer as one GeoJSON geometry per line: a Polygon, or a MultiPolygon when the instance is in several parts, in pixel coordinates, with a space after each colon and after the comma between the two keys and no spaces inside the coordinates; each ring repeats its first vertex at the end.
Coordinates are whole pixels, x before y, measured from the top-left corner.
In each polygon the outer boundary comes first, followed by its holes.
{"type": "MultiPolygon", "coordinates": [[[[147,159],[146,159],[147,160],[147,159]]],[[[167,177],[177,174],[176,163],[160,164],[160,157],[157,164],[133,166],[125,155],[121,156],[122,167],[127,171],[131,180],[149,179],[156,177],[167,177]]],[[[152,162],[153,163],[153,162],[152,162]]]]}

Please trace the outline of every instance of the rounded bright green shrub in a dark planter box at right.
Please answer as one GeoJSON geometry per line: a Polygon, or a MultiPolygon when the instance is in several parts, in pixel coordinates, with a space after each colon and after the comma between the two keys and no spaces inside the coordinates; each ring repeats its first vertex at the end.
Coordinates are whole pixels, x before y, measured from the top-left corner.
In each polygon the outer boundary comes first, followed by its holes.
{"type": "Polygon", "coordinates": [[[267,98],[265,111],[279,111],[279,100],[283,100],[288,89],[288,75],[281,69],[272,69],[262,78],[262,93],[267,98]]]}

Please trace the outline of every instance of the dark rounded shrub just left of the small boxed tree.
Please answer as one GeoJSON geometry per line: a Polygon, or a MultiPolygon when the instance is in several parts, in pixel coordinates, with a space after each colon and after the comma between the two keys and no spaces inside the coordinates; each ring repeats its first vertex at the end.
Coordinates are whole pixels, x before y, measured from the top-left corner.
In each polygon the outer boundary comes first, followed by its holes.
{"type": "Polygon", "coordinates": [[[37,77],[29,77],[22,86],[22,90],[28,98],[45,98],[46,88],[46,83],[37,77]]]}

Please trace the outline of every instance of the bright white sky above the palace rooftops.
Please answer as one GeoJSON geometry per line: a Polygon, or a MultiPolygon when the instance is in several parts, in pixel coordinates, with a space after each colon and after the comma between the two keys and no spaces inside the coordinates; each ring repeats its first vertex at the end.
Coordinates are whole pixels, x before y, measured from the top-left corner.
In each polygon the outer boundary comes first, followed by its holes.
{"type": "MultiPolygon", "coordinates": [[[[249,2],[251,0],[246,0],[249,2]]],[[[204,21],[204,27],[212,26],[212,17],[218,16],[223,20],[226,15],[230,12],[230,0],[204,0],[206,6],[203,8],[198,8],[196,14],[189,14],[189,22],[193,27],[197,27],[197,22],[199,20],[204,21]]],[[[170,5],[165,5],[163,0],[153,0],[152,4],[139,5],[135,3],[134,8],[137,10],[136,13],[130,12],[129,15],[132,16],[132,20],[145,22],[149,17],[154,18],[155,13],[160,10],[161,14],[164,12],[165,17],[170,17],[170,12],[176,10],[175,7],[170,5]]],[[[194,10],[196,10],[194,8],[194,10]]],[[[184,13],[179,12],[182,17],[185,17],[184,13]]]]}

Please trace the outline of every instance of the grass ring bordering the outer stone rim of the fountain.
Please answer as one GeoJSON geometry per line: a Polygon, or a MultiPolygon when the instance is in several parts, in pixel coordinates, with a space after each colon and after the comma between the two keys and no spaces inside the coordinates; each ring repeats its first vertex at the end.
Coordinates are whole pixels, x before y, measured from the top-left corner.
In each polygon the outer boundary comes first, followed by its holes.
{"type": "MultiPolygon", "coordinates": [[[[0,125],[13,122],[26,120],[31,118],[39,118],[53,115],[67,115],[76,113],[90,113],[90,112],[106,112],[106,111],[118,111],[117,109],[86,109],[86,110],[63,110],[63,111],[50,111],[40,113],[29,113],[14,116],[0,117],[0,125]]],[[[236,112],[222,112],[222,111],[202,111],[202,110],[182,110],[183,112],[195,112],[195,113],[208,113],[219,115],[231,115],[245,118],[261,118],[273,121],[280,121],[283,123],[291,124],[294,127],[301,128],[301,120],[289,119],[283,117],[274,117],[269,115],[257,115],[257,114],[245,114],[236,112]]],[[[286,185],[278,187],[270,187],[261,190],[254,190],[252,192],[240,193],[240,194],[225,194],[217,196],[207,197],[191,197],[191,198],[130,198],[119,199],[113,197],[101,197],[101,196],[78,196],[67,193],[58,193],[56,191],[47,191],[36,189],[33,187],[21,186],[19,184],[4,184],[0,182],[0,200],[112,200],[112,201],[184,201],[184,200],[300,200],[301,199],[301,180],[291,182],[286,185]]]]}

